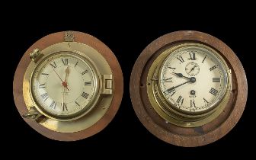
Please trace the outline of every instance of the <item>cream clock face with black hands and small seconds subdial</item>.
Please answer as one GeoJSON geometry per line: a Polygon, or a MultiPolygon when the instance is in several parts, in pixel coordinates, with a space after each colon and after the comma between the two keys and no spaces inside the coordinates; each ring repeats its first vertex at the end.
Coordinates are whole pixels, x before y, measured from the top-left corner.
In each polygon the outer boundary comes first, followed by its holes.
{"type": "Polygon", "coordinates": [[[169,51],[159,72],[162,95],[176,110],[202,113],[222,100],[227,71],[218,53],[203,45],[184,45],[169,51]]]}

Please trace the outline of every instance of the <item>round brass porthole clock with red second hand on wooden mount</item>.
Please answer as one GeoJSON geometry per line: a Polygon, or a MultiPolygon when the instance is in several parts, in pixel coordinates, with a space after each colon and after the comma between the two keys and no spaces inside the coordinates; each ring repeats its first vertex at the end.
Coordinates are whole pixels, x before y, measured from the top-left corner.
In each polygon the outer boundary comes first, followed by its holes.
{"type": "Polygon", "coordinates": [[[72,141],[103,130],[120,106],[123,76],[100,40],[75,31],[30,46],[14,75],[14,101],[24,120],[50,139],[72,141]]]}

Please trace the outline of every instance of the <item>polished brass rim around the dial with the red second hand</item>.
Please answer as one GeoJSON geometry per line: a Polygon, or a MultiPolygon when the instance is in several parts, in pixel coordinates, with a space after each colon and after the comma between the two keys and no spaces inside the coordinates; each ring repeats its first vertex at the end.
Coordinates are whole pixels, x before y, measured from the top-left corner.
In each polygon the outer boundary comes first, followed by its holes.
{"type": "Polygon", "coordinates": [[[50,130],[61,133],[78,132],[80,130],[87,129],[94,123],[97,123],[98,120],[100,120],[101,117],[103,117],[107,112],[107,109],[110,107],[111,101],[113,99],[113,92],[110,92],[109,94],[105,93],[105,75],[107,75],[107,77],[110,78],[113,82],[112,90],[114,91],[114,79],[112,76],[113,73],[104,57],[101,56],[101,53],[98,53],[97,50],[94,50],[91,48],[91,46],[87,46],[83,43],[61,42],[46,47],[45,49],[41,50],[41,54],[43,54],[43,56],[40,57],[40,59],[37,59],[37,62],[30,62],[24,75],[23,95],[27,110],[30,110],[30,108],[33,107],[36,108],[40,114],[43,114],[45,117],[47,117],[39,123],[50,130]],[[40,107],[37,104],[37,101],[33,98],[33,94],[30,88],[31,78],[37,66],[40,65],[40,63],[47,59],[49,56],[65,52],[88,62],[88,65],[91,66],[91,69],[93,69],[94,78],[98,84],[95,84],[97,87],[95,88],[94,98],[88,104],[91,105],[88,110],[82,110],[83,113],[73,115],[72,117],[63,118],[55,117],[43,111],[42,107],[40,107]],[[102,106],[104,106],[104,109],[102,109],[102,106]]]}

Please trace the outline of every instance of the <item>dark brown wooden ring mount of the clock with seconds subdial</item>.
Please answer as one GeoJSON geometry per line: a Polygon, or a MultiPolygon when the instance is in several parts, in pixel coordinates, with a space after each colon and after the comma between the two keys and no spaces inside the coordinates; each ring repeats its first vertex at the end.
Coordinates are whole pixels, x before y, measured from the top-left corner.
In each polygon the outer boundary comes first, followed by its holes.
{"type": "Polygon", "coordinates": [[[242,116],[247,94],[248,85],[245,71],[238,57],[229,46],[216,37],[192,30],[165,34],[146,46],[146,49],[136,60],[130,77],[130,97],[137,117],[153,135],[176,146],[203,146],[225,136],[242,116]],[[165,120],[152,109],[146,94],[146,75],[155,57],[161,53],[159,51],[166,46],[184,41],[204,43],[213,47],[226,60],[229,69],[232,69],[233,89],[229,103],[215,120],[195,128],[184,128],[165,123],[165,120]]]}

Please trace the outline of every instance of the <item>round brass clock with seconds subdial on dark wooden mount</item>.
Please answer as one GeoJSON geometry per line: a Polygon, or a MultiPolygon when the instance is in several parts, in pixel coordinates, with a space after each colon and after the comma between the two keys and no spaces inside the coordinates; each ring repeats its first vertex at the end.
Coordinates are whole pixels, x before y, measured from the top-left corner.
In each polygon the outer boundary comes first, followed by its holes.
{"type": "Polygon", "coordinates": [[[153,41],[136,61],[130,80],[133,108],[159,139],[203,146],[224,136],[245,108],[247,81],[225,43],[197,31],[153,41]]]}

